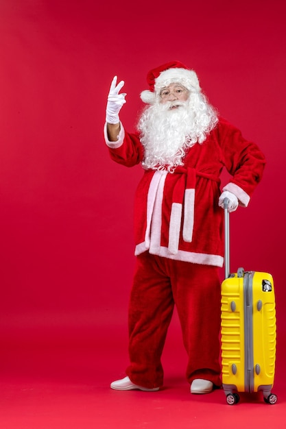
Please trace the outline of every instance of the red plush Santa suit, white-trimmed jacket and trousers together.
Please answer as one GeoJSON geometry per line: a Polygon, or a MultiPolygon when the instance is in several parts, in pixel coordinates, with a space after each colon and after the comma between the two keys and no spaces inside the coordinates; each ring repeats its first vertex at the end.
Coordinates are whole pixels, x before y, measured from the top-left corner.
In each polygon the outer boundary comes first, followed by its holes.
{"type": "MultiPolygon", "coordinates": [[[[189,72],[185,86],[199,89],[196,75],[189,72]]],[[[154,74],[150,76],[154,86],[154,74]]],[[[144,160],[139,133],[130,134],[121,124],[116,142],[108,140],[106,127],[104,136],[115,162],[132,167],[144,160]]],[[[126,373],[134,384],[148,389],[163,384],[160,358],[175,305],[188,354],[187,380],[221,384],[218,269],[224,263],[224,212],[218,206],[219,177],[226,168],[232,180],[224,191],[246,207],[261,180],[265,158],[236,127],[219,119],[202,144],[187,149],[182,162],[172,173],[145,169],[135,197],[136,269],[126,373]]]]}

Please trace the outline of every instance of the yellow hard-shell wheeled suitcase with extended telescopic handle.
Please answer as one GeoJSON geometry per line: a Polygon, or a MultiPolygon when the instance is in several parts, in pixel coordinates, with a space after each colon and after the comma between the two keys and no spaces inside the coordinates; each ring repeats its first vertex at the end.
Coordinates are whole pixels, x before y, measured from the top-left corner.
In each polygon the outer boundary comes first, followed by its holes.
{"type": "Polygon", "coordinates": [[[229,272],[229,215],[225,213],[225,280],[222,282],[222,386],[226,402],[239,401],[238,392],[263,393],[276,404],[272,393],[276,358],[274,281],[269,273],[229,272]]]}

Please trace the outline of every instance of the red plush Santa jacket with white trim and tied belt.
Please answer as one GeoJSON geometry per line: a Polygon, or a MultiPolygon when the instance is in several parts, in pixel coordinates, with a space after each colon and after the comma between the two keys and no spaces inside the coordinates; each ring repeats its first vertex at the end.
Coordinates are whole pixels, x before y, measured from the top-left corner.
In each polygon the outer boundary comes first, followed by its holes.
{"type": "MultiPolygon", "coordinates": [[[[139,134],[121,132],[108,141],[110,156],[132,167],[143,160],[139,134]]],[[[198,264],[224,263],[223,210],[218,206],[222,169],[233,178],[224,191],[234,193],[240,206],[248,206],[261,180],[265,158],[259,147],[241,136],[224,119],[204,143],[188,149],[184,167],[174,173],[145,170],[135,197],[135,254],[151,254],[198,264]]]]}

